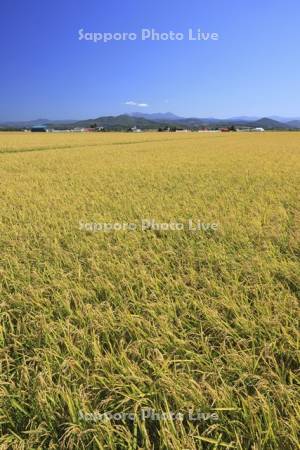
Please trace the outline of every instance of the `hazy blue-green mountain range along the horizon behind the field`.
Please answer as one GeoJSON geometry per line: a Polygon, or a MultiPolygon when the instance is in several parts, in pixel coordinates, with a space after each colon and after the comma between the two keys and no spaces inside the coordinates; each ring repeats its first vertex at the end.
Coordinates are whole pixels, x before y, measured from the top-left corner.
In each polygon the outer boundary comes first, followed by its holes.
{"type": "Polygon", "coordinates": [[[157,129],[164,127],[201,128],[201,127],[262,127],[266,130],[288,130],[300,129],[300,118],[272,117],[249,117],[238,116],[228,119],[217,119],[214,117],[180,117],[171,112],[167,113],[141,113],[121,114],[118,116],[103,116],[87,120],[48,120],[37,119],[32,121],[16,121],[0,123],[2,129],[23,129],[36,125],[46,125],[48,128],[89,128],[91,126],[104,127],[108,130],[124,130],[132,127],[141,129],[157,129]]]}

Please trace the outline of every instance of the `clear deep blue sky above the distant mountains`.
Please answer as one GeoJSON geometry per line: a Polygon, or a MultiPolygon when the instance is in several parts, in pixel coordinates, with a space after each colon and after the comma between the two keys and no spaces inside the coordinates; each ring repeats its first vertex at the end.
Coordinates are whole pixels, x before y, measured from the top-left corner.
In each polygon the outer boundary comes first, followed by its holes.
{"type": "Polygon", "coordinates": [[[300,116],[299,22],[299,0],[5,1],[0,120],[300,116]],[[219,40],[142,41],[143,28],[219,40]],[[138,38],[80,41],[79,29],[138,38]]]}

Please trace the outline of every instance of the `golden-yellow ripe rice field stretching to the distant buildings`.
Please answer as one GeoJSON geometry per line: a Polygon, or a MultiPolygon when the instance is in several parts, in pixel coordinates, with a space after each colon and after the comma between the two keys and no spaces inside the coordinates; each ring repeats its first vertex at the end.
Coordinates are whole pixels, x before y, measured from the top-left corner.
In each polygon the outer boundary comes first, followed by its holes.
{"type": "Polygon", "coordinates": [[[0,449],[300,448],[299,186],[300,133],[0,133],[0,449]]]}

